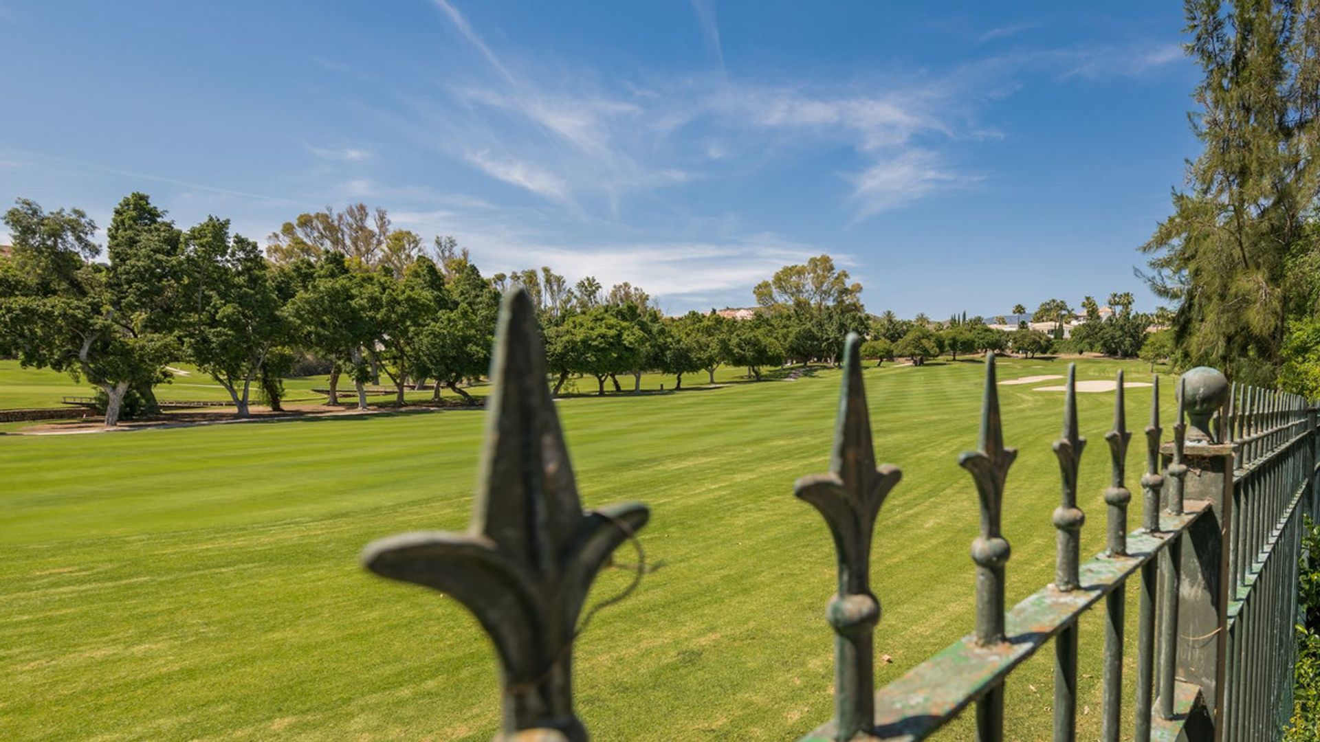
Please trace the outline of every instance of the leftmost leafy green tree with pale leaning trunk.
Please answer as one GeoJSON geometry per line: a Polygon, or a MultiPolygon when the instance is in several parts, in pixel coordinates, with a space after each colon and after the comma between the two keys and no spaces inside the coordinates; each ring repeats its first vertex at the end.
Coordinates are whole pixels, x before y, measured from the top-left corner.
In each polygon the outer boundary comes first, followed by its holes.
{"type": "Polygon", "coordinates": [[[177,353],[136,310],[156,301],[158,287],[95,263],[96,224],[79,209],[46,213],[18,199],[4,223],[13,255],[0,260],[0,354],[96,386],[106,425],[116,425],[128,391],[162,380],[177,353]]]}

